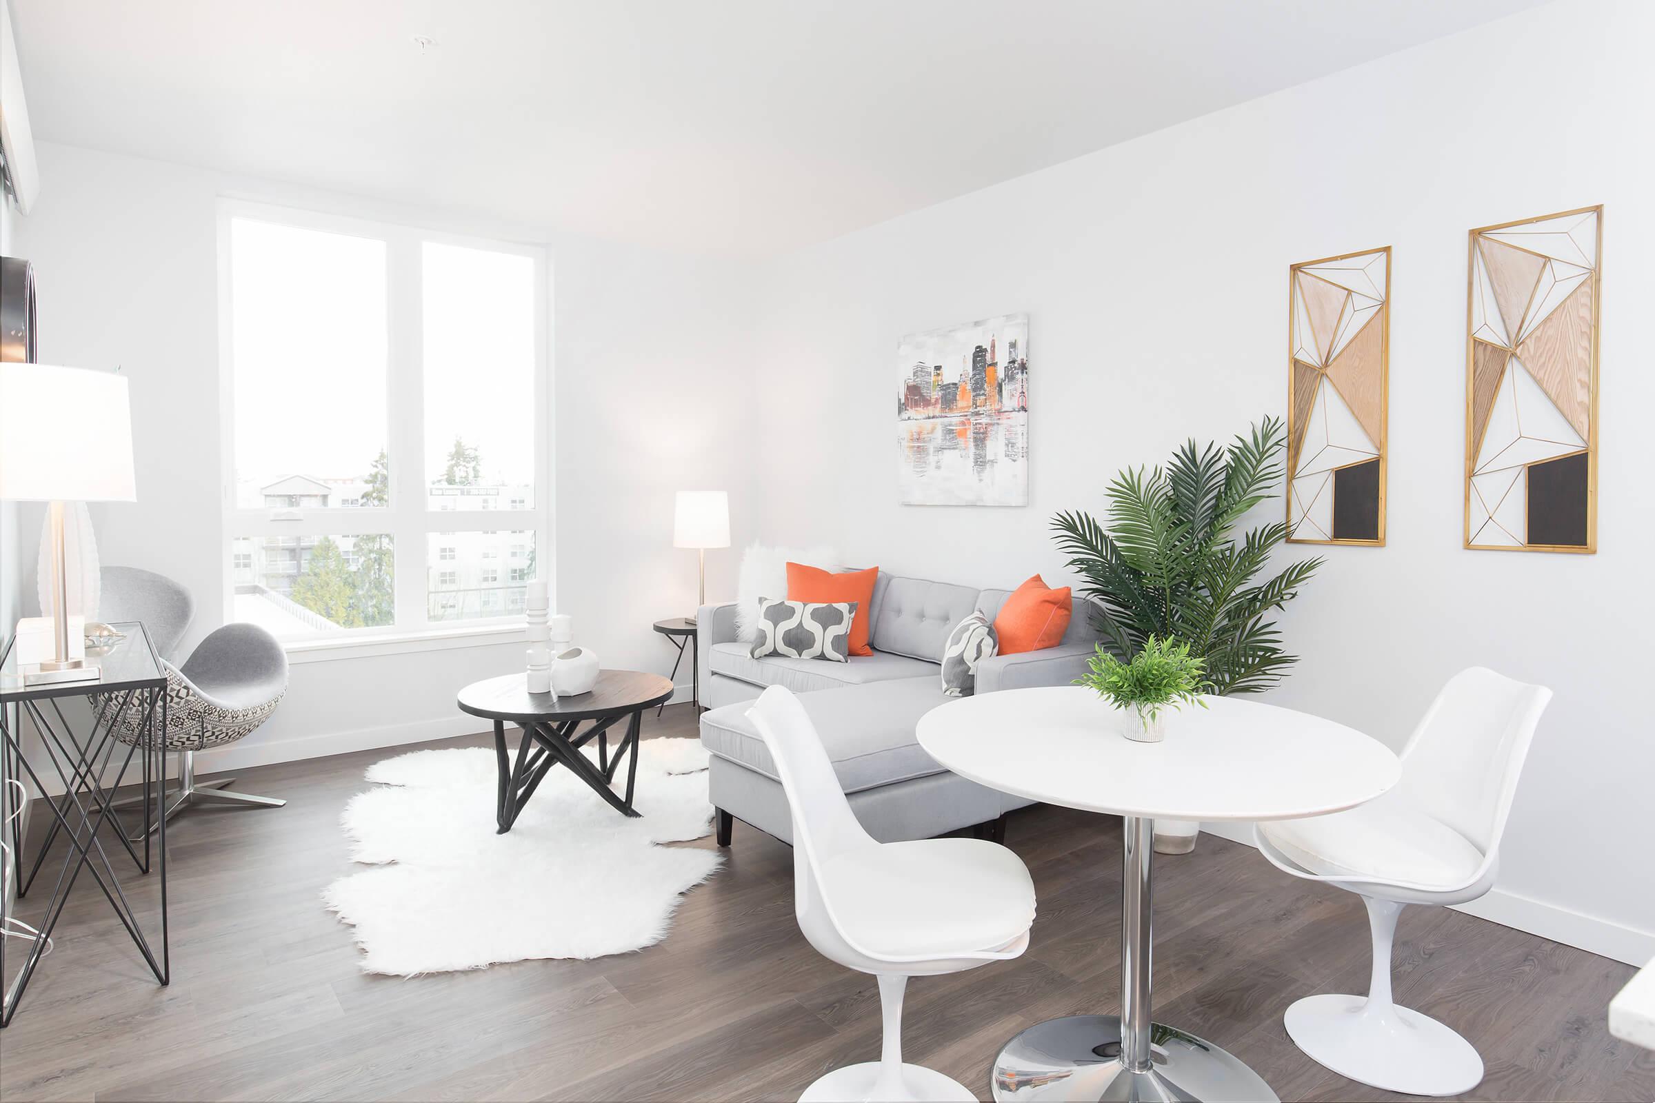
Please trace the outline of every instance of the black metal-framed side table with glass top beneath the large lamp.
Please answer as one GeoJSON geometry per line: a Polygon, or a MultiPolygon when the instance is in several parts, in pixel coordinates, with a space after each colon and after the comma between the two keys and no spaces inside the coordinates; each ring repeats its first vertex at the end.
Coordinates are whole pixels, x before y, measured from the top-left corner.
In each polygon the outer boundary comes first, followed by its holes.
{"type": "MultiPolygon", "coordinates": [[[[166,747],[161,733],[167,726],[167,675],[161,666],[161,658],[141,623],[118,623],[114,628],[124,633],[114,647],[103,655],[88,655],[86,663],[96,666],[96,681],[70,681],[53,685],[31,685],[17,661],[17,640],[0,655],[0,776],[12,777],[33,787],[35,794],[46,794],[48,785],[63,789],[61,797],[41,799],[36,807],[51,812],[50,830],[35,855],[35,865],[28,876],[23,870],[23,838],[17,822],[12,824],[8,840],[12,853],[17,855],[17,895],[22,900],[28,895],[40,873],[46,853],[58,835],[68,838],[68,853],[58,870],[58,880],[51,890],[51,900],[36,926],[40,934],[23,959],[23,967],[8,987],[0,991],[0,1027],[12,1022],[18,1000],[35,976],[35,967],[45,953],[46,939],[63,916],[63,906],[70,898],[70,890],[79,880],[83,870],[89,871],[104,900],[114,910],[121,926],[132,938],[151,972],[161,984],[167,984],[172,976],[172,959],[167,948],[167,820],[162,815],[166,747]],[[89,723],[76,724],[65,714],[61,698],[84,698],[91,706],[89,723]],[[126,746],[114,738],[116,718],[137,709],[142,718],[142,736],[137,742],[126,746]],[[38,734],[38,747],[25,751],[23,718],[28,716],[38,734]],[[124,754],[122,754],[124,747],[124,754]],[[116,819],[113,799],[116,789],[126,781],[132,759],[137,757],[144,777],[144,842],[142,855],[127,840],[116,819]],[[50,772],[48,772],[50,771],[50,772]],[[113,777],[111,777],[113,772],[113,777]],[[154,789],[154,795],[151,795],[154,789]],[[159,820],[156,832],[156,863],[161,880],[161,957],[157,961],[144,928],[137,921],[137,913],[121,888],[109,852],[104,850],[103,828],[109,832],[126,848],[132,865],[139,873],[151,870],[149,825],[159,820]]],[[[136,781],[136,779],[134,779],[136,781]]],[[[0,986],[5,986],[8,939],[0,938],[0,986]]]]}

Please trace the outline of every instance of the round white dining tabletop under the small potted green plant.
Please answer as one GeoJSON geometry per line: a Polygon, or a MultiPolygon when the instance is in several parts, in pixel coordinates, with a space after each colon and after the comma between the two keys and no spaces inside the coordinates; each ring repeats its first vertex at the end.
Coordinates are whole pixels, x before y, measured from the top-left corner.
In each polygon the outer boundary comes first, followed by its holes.
{"type": "Polygon", "coordinates": [[[1341,812],[1397,784],[1402,764],[1360,731],[1274,704],[1206,698],[1162,742],[1086,686],[1001,690],[933,708],[919,742],[955,774],[1046,804],[1172,820],[1289,820],[1341,812]]]}

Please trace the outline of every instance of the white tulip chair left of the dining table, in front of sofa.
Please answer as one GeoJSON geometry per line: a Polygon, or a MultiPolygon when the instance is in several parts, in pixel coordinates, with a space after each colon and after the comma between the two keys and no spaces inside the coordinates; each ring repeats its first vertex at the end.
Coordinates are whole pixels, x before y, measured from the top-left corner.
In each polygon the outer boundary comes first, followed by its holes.
{"type": "Polygon", "coordinates": [[[1034,923],[1034,883],[1015,853],[976,838],[880,843],[851,812],[816,728],[771,686],[750,716],[793,810],[794,914],[824,957],[879,977],[879,1062],[834,1068],[801,1098],[975,1100],[940,1072],[902,1063],[909,977],[1018,957],[1034,923]]]}

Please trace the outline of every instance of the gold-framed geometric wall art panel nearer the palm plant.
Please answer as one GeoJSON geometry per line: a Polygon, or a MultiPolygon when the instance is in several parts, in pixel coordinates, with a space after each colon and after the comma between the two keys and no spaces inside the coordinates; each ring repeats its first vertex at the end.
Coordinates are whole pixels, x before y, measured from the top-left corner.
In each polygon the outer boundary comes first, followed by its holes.
{"type": "Polygon", "coordinates": [[[1288,270],[1288,539],[1385,544],[1390,246],[1288,270]]]}

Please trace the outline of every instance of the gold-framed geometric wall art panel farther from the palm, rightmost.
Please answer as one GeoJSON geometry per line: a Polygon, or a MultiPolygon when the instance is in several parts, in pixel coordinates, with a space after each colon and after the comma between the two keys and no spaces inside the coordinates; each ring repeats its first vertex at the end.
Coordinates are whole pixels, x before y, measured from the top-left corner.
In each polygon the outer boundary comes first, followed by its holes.
{"type": "Polygon", "coordinates": [[[1604,208],[1471,230],[1465,546],[1597,551],[1604,208]]]}

